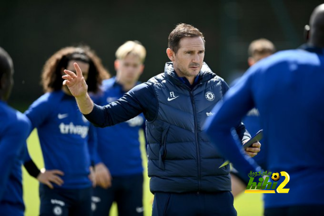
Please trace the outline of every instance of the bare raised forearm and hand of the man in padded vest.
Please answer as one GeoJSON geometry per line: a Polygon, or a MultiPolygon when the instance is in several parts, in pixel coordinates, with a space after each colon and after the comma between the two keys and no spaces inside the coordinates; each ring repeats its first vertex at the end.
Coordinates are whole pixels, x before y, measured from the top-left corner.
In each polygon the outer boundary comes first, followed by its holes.
{"type": "Polygon", "coordinates": [[[80,112],[83,114],[89,114],[93,110],[94,105],[88,94],[88,85],[82,75],[79,65],[77,65],[77,63],[74,63],[73,65],[76,74],[70,70],[64,70],[66,75],[62,76],[62,78],[65,79],[63,85],[66,85],[71,94],[75,97],[80,112]]]}

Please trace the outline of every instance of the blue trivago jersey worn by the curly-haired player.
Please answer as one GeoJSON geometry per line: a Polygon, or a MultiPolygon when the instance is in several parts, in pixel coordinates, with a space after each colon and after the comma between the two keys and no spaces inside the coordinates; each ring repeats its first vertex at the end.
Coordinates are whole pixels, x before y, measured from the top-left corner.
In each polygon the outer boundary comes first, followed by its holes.
{"type": "Polygon", "coordinates": [[[46,93],[25,114],[32,129],[37,128],[45,168],[64,172],[61,177],[64,184],[60,188],[91,187],[88,175],[96,134],[94,126],[79,112],[75,98],[61,90],[46,93]]]}

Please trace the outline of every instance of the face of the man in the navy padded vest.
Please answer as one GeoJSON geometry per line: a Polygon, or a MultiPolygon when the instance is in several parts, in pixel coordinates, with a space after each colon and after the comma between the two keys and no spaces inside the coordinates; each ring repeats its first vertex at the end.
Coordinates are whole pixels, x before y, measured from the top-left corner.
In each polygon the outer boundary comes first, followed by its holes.
{"type": "Polygon", "coordinates": [[[173,66],[180,77],[196,77],[203,66],[205,45],[201,37],[182,38],[174,53],[173,66]]]}

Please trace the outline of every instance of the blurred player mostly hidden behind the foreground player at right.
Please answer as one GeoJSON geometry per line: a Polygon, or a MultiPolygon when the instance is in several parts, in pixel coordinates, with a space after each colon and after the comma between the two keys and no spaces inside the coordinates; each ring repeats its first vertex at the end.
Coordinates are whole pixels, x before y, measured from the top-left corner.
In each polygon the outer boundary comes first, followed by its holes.
{"type": "MultiPolygon", "coordinates": [[[[275,47],[273,43],[267,39],[258,39],[249,45],[248,53],[248,63],[249,66],[254,65],[259,60],[266,58],[270,55],[272,55],[275,52],[275,47]]],[[[232,83],[232,86],[235,85],[237,82],[239,82],[239,78],[234,80],[232,83]]],[[[248,114],[242,118],[242,122],[244,123],[247,130],[250,132],[251,135],[256,134],[260,129],[262,129],[260,124],[260,115],[259,111],[255,108],[250,110],[248,114]]],[[[266,169],[266,145],[263,145],[262,143],[262,151],[258,153],[253,159],[260,165],[263,169],[266,169]]],[[[237,172],[237,170],[232,167],[231,170],[231,181],[232,181],[232,194],[233,196],[237,196],[240,193],[244,192],[247,188],[248,183],[244,182],[241,176],[241,174],[237,172]]]]}

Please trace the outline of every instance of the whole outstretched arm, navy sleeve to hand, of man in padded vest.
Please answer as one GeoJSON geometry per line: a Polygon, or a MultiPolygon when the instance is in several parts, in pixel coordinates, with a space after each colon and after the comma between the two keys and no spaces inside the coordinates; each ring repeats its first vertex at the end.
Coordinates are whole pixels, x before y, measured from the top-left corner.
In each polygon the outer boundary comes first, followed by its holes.
{"type": "Polygon", "coordinates": [[[80,68],[74,63],[76,75],[69,70],[64,70],[66,75],[64,85],[67,85],[80,111],[95,126],[107,127],[130,120],[140,113],[144,113],[147,120],[151,121],[157,113],[157,100],[154,89],[150,83],[135,86],[123,97],[105,106],[93,103],[87,93],[87,84],[82,77],[80,68]]]}

